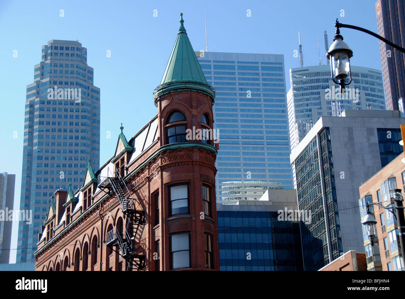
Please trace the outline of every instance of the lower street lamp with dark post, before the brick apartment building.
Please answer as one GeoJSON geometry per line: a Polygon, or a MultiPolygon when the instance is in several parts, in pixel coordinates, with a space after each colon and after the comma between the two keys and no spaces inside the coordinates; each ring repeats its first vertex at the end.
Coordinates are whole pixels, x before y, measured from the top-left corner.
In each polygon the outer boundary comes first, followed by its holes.
{"type": "Polygon", "coordinates": [[[369,236],[371,246],[374,245],[373,239],[374,239],[374,231],[373,231],[373,226],[374,224],[377,223],[375,221],[375,218],[373,215],[371,215],[369,206],[370,205],[378,205],[379,207],[382,207],[383,209],[388,209],[390,211],[397,223],[398,223],[398,233],[399,233],[399,243],[401,245],[401,254],[402,254],[402,260],[403,260],[403,265],[405,265],[405,216],[404,216],[404,207],[403,207],[403,195],[401,193],[401,189],[394,189],[392,194],[392,199],[395,202],[394,207],[385,207],[384,205],[381,205],[379,203],[367,203],[366,208],[367,208],[367,214],[364,217],[364,220],[362,224],[364,224],[367,227],[367,235],[369,236]],[[396,215],[394,213],[394,210],[396,211],[396,215]]]}

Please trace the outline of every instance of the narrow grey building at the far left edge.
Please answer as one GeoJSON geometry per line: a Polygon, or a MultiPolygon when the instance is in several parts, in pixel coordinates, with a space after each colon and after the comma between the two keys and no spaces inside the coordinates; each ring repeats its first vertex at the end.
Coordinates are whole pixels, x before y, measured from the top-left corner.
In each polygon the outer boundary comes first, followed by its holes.
{"type": "Polygon", "coordinates": [[[8,264],[10,260],[13,221],[7,211],[14,209],[14,188],[15,175],[0,173],[0,264],[8,264]]]}

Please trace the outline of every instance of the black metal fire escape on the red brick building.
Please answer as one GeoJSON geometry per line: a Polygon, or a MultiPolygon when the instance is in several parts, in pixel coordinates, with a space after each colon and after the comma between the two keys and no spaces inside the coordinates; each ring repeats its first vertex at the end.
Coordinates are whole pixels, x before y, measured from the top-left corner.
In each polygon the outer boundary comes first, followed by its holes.
{"type": "Polygon", "coordinates": [[[127,271],[143,270],[145,267],[145,254],[142,252],[143,246],[139,242],[145,224],[145,209],[142,202],[132,198],[124,179],[119,173],[119,169],[117,169],[115,176],[111,174],[109,169],[106,176],[100,174],[98,176],[98,187],[100,189],[107,188],[109,194],[114,192],[119,203],[121,203],[122,212],[127,218],[126,224],[123,223],[125,228],[123,232],[119,231],[117,227],[107,232],[107,246],[118,252],[127,261],[127,271]]]}

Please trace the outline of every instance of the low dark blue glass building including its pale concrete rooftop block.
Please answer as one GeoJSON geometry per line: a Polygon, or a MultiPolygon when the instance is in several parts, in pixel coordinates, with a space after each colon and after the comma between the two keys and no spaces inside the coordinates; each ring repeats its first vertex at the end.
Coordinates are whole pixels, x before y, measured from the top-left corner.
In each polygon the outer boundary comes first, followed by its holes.
{"type": "Polygon", "coordinates": [[[258,201],[217,204],[220,270],[303,271],[299,220],[279,221],[280,210],[298,210],[296,190],[266,190],[258,201]]]}

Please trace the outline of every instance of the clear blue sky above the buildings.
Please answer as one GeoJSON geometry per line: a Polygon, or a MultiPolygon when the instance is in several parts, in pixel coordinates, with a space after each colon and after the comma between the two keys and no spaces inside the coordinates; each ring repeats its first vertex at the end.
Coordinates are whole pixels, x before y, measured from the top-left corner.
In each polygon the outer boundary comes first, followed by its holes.
{"type": "MultiPolygon", "coordinates": [[[[205,49],[204,4],[207,4],[209,51],[284,54],[287,90],[289,69],[298,67],[298,30],[304,66],[318,65],[317,34],[323,64],[323,31],[329,45],[334,23],[377,32],[375,0],[358,1],[10,1],[0,2],[0,172],[16,174],[15,209],[19,209],[26,85],[34,81],[41,46],[52,39],[79,40],[101,89],[100,163],[115,150],[119,126],[129,140],[157,113],[152,92],[159,85],[179,29],[179,13],[194,50],[205,49]],[[64,17],[60,17],[60,10],[64,17]],[[157,17],[153,17],[153,10],[157,17]],[[247,17],[247,9],[251,17],[247,17]],[[341,10],[344,17],[340,17],[341,10]],[[17,50],[17,57],[13,51],[17,50]],[[106,52],[111,50],[111,58],[106,52]],[[13,132],[17,131],[17,138],[13,132]],[[107,131],[112,138],[107,139],[107,131]]],[[[378,40],[343,28],[352,48],[352,65],[381,70],[378,40]]],[[[17,247],[17,222],[13,243],[17,247]]],[[[15,261],[12,250],[11,261],[15,261]]]]}

